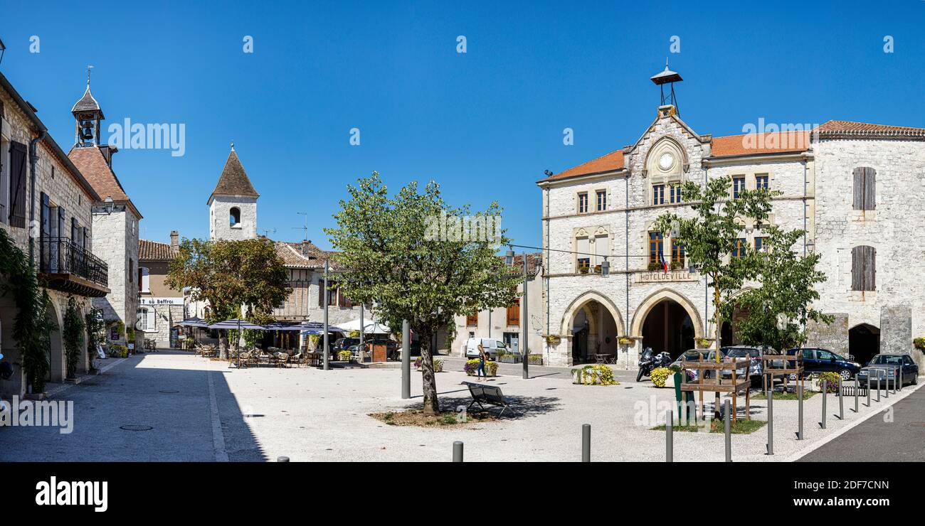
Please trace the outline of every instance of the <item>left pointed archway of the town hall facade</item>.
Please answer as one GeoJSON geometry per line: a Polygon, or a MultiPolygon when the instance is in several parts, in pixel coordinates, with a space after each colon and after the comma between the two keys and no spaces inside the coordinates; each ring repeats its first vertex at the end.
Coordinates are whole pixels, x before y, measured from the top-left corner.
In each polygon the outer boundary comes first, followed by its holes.
{"type": "Polygon", "coordinates": [[[562,333],[572,336],[572,363],[597,361],[597,354],[616,361],[623,320],[610,300],[597,292],[582,294],[566,310],[563,325],[562,333]]]}

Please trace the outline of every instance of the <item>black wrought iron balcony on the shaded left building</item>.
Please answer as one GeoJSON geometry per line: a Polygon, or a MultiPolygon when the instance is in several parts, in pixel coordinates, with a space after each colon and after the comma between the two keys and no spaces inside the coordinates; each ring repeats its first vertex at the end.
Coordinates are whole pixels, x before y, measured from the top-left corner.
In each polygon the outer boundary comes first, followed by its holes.
{"type": "Polygon", "coordinates": [[[48,287],[102,298],[109,293],[109,267],[69,238],[39,239],[39,275],[48,287]]]}

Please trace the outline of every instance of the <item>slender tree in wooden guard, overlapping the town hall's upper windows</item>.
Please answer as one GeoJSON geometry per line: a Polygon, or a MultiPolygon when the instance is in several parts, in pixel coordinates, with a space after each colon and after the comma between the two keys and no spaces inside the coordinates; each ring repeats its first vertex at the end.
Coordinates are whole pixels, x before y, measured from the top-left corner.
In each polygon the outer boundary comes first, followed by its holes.
{"type": "MultiPolygon", "coordinates": [[[[746,279],[757,274],[756,260],[749,256],[752,250],[737,247],[736,239],[747,218],[759,228],[771,214],[771,198],[781,192],[769,190],[742,190],[736,199],[730,191],[730,177],[709,179],[703,187],[685,181],[682,195],[690,202],[694,214],[685,216],[666,213],[656,220],[655,227],[662,233],[672,232],[675,242],[684,244],[688,264],[697,267],[713,288],[713,329],[716,348],[720,348],[720,329],[724,314],[723,305],[742,288],[746,279]],[[737,248],[741,257],[733,257],[737,248]]],[[[720,353],[716,353],[720,361],[720,353]]]]}

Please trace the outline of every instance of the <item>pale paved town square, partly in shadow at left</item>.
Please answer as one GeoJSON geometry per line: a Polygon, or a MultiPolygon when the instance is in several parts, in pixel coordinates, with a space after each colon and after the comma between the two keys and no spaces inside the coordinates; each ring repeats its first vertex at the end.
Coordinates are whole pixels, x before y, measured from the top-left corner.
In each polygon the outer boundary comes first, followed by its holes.
{"type": "MultiPolygon", "coordinates": [[[[102,362],[105,363],[105,362],[102,362]]],[[[467,405],[461,359],[446,359],[437,374],[444,408],[467,405]]],[[[388,425],[371,412],[404,410],[421,403],[420,373],[413,372],[412,399],[401,399],[399,369],[261,367],[237,370],[190,353],[161,351],[130,357],[80,385],[56,391],[73,400],[74,431],[50,427],[0,428],[0,461],[9,460],[437,460],[451,458],[455,440],[466,461],[578,460],[581,425],[592,426],[593,460],[664,459],[665,434],[652,431],[652,415],[670,407],[672,389],[657,389],[635,374],[618,371],[621,385],[573,385],[568,369],[502,364],[489,381],[511,398],[512,414],[497,422],[434,428],[388,425]],[[659,407],[661,403],[661,407],[659,407]],[[123,426],[150,426],[127,431],[123,426]]],[[[915,386],[918,387],[918,386],[915,386]]],[[[736,461],[793,460],[915,391],[882,398],[869,409],[845,398],[845,421],[837,398],[828,398],[828,429],[821,430],[821,399],[805,403],[806,440],[796,441],[796,401],[774,404],[775,455],[766,456],[767,432],[733,436],[736,461]]],[[[744,399],[739,398],[740,414],[744,399]]],[[[752,400],[752,418],[766,419],[766,402],[752,400]]],[[[663,418],[663,417],[661,417],[663,418]]],[[[890,426],[879,415],[864,426],[890,426]]],[[[675,460],[722,460],[722,434],[675,433],[675,460]]]]}

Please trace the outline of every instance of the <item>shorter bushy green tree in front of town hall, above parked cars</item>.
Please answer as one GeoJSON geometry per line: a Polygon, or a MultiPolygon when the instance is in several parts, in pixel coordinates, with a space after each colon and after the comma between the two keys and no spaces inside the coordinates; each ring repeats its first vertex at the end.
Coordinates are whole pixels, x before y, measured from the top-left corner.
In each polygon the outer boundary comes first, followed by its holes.
{"type": "Polygon", "coordinates": [[[726,303],[725,317],[731,317],[736,307],[746,312],[735,324],[736,336],[746,345],[793,349],[806,341],[807,320],[833,321],[833,316],[811,306],[820,298],[816,285],[825,281],[825,274],[816,270],[820,254],[799,256],[793,250],[803,230],[770,226],[764,234],[764,250],[749,255],[760,285],[726,303]]]}

